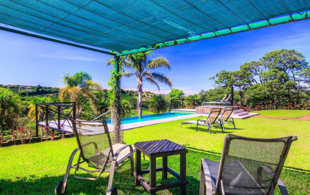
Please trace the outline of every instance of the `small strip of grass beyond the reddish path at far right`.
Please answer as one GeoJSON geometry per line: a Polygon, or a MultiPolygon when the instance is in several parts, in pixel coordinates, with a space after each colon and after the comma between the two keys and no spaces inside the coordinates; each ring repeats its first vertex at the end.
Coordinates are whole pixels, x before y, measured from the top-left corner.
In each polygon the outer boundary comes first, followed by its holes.
{"type": "Polygon", "coordinates": [[[260,110],[260,116],[297,118],[310,114],[310,110],[260,110]]]}

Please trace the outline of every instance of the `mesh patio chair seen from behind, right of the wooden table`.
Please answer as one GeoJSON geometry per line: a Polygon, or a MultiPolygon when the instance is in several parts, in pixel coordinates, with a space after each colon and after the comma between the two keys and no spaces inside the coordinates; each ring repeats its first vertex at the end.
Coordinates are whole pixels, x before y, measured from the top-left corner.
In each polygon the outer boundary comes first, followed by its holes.
{"type": "Polygon", "coordinates": [[[268,194],[276,185],[287,190],[279,178],[290,145],[297,137],[256,139],[228,134],[220,162],[201,159],[200,194],[268,194]]]}

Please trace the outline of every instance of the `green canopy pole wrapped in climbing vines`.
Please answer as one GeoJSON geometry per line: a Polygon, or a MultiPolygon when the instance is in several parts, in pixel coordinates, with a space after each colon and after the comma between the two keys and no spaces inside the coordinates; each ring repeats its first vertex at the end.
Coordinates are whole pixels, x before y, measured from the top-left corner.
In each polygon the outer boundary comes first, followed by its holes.
{"type": "Polygon", "coordinates": [[[113,131],[113,144],[123,142],[122,132],[122,116],[121,116],[121,77],[120,72],[121,61],[120,58],[115,56],[114,64],[114,98],[112,103],[113,118],[114,118],[114,131],[113,131]]]}

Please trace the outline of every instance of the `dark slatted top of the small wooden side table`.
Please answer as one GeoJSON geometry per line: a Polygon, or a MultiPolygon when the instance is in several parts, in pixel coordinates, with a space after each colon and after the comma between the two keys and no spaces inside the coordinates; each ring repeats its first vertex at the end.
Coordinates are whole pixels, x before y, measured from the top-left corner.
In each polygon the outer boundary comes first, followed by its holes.
{"type": "Polygon", "coordinates": [[[175,155],[188,152],[185,146],[166,139],[136,142],[134,146],[148,157],[161,157],[167,156],[167,153],[175,155]]]}

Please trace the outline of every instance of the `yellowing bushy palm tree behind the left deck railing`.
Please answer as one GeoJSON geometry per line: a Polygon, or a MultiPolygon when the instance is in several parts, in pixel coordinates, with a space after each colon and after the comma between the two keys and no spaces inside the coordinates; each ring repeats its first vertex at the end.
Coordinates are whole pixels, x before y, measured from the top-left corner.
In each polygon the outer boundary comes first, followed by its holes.
{"type": "Polygon", "coordinates": [[[70,101],[76,103],[76,118],[79,118],[82,112],[82,97],[89,100],[94,111],[97,111],[95,91],[100,95],[102,86],[98,82],[92,81],[89,73],[79,72],[72,76],[64,73],[62,81],[65,86],[59,91],[60,101],[65,101],[69,96],[70,101]]]}

